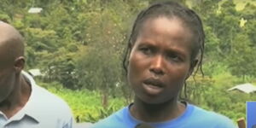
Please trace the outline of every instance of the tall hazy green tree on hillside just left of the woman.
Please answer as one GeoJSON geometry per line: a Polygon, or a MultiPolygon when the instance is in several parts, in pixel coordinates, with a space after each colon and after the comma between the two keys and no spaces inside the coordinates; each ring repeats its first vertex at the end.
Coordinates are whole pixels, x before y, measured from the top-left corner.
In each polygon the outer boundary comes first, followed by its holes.
{"type": "Polygon", "coordinates": [[[108,96],[115,96],[115,90],[123,83],[121,56],[125,48],[125,11],[100,9],[81,16],[88,27],[84,31],[86,46],[80,50],[77,61],[79,84],[90,90],[100,90],[102,104],[107,107],[108,96]]]}

